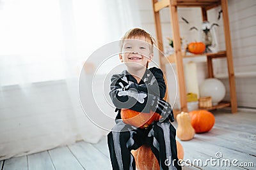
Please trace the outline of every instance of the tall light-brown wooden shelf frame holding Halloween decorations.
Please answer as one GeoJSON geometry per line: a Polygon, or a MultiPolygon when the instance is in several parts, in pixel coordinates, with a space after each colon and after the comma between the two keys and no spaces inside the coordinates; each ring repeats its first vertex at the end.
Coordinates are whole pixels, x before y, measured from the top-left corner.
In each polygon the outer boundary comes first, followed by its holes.
{"type": "MultiPolygon", "coordinates": [[[[232,58],[232,46],[230,41],[230,27],[228,19],[228,4],[227,0],[152,0],[153,9],[154,9],[154,19],[156,25],[156,36],[157,36],[157,46],[161,52],[163,52],[163,36],[161,32],[161,20],[159,16],[159,11],[163,8],[169,8],[170,18],[172,24],[172,35],[173,35],[173,47],[174,53],[167,57],[164,57],[162,54],[159,55],[159,64],[163,73],[166,74],[166,62],[174,62],[177,67],[177,76],[178,76],[178,85],[179,85],[179,94],[180,94],[180,110],[188,111],[187,99],[186,99],[186,86],[184,80],[184,69],[183,69],[183,58],[185,57],[197,57],[198,55],[185,55],[181,50],[180,43],[180,31],[179,31],[179,20],[177,14],[177,8],[179,7],[200,7],[202,10],[203,20],[207,20],[207,10],[215,8],[216,6],[221,6],[222,15],[223,15],[223,26],[225,33],[225,45],[226,50],[218,53],[206,53],[204,54],[207,57],[207,66],[209,78],[213,78],[213,67],[212,59],[219,57],[226,57],[227,67],[228,67],[228,80],[230,87],[230,102],[220,103],[218,106],[213,106],[209,110],[214,110],[216,108],[223,108],[231,106],[231,112],[237,112],[237,98],[236,98],[236,81],[234,76],[234,66],[232,58]]],[[[202,55],[200,55],[202,56],[202,55]]]]}

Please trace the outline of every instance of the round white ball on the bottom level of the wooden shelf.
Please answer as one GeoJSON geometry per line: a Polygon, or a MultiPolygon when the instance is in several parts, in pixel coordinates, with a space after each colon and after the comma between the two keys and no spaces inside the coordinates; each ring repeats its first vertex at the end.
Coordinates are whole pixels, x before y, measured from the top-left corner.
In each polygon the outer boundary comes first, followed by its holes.
{"type": "Polygon", "coordinates": [[[199,87],[200,97],[212,97],[212,105],[216,106],[226,94],[223,83],[216,78],[207,78],[199,87]]]}

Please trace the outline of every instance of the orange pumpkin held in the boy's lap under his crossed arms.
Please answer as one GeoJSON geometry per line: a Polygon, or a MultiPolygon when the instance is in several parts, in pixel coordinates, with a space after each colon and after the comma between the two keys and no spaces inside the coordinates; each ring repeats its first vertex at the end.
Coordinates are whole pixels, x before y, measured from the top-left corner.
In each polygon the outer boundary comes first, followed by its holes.
{"type": "Polygon", "coordinates": [[[147,128],[152,122],[159,120],[160,115],[154,113],[143,113],[134,110],[121,110],[121,118],[125,124],[134,125],[135,127],[147,128]]]}

